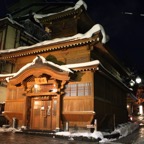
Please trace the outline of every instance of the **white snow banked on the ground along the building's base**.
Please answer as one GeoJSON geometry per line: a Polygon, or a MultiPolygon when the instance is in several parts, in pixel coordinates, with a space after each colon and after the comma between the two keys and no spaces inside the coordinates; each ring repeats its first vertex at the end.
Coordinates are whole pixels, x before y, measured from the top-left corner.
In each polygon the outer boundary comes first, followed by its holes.
{"type": "MultiPolygon", "coordinates": [[[[128,122],[124,124],[118,125],[117,128],[111,133],[108,132],[101,132],[101,131],[94,131],[94,132],[69,132],[69,131],[61,131],[56,132],[55,135],[58,136],[65,136],[68,137],[68,140],[74,140],[75,137],[87,137],[88,139],[99,139],[99,143],[105,143],[105,142],[111,142],[116,139],[120,139],[122,137],[126,137],[127,135],[134,132],[136,129],[139,128],[139,123],[136,122],[128,122]],[[113,135],[113,134],[120,134],[120,137],[118,138],[105,138],[105,135],[113,135]]],[[[15,128],[0,128],[0,132],[21,132],[21,129],[15,129],[15,128]]]]}

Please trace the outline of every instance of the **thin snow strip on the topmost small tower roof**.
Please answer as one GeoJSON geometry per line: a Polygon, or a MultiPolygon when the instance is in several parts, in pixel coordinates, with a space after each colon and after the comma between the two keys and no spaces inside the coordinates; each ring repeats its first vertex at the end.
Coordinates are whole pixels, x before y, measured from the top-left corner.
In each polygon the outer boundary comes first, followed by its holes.
{"type": "Polygon", "coordinates": [[[63,12],[67,12],[69,10],[77,10],[78,8],[80,8],[81,6],[84,6],[85,9],[87,9],[87,5],[86,3],[83,1],[83,0],[79,0],[74,7],[70,7],[70,8],[67,8],[61,12],[58,12],[58,13],[50,13],[50,14],[35,14],[34,15],[34,19],[36,22],[39,22],[39,19],[42,19],[42,18],[45,18],[45,17],[49,17],[49,16],[52,16],[52,15],[56,15],[56,14],[60,14],[60,13],[63,13],[63,12]]]}

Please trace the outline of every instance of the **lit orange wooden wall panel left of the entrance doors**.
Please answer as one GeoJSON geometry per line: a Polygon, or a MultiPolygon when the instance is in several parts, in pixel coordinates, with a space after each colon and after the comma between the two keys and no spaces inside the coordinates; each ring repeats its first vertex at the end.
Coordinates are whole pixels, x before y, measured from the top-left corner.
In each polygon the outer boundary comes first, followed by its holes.
{"type": "Polygon", "coordinates": [[[25,124],[25,109],[26,109],[26,97],[23,96],[23,87],[11,87],[8,89],[4,116],[12,124],[12,119],[19,120],[19,125],[25,124]]]}

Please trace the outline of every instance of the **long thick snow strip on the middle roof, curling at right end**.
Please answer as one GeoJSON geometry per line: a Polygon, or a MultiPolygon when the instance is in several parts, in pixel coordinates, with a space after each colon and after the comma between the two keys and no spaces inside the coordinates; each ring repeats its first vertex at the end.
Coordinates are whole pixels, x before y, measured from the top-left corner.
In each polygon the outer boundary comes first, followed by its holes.
{"type": "Polygon", "coordinates": [[[25,50],[25,49],[31,49],[31,48],[35,48],[35,47],[50,45],[50,44],[54,44],[54,43],[58,43],[58,42],[75,41],[75,40],[91,38],[93,36],[93,34],[98,32],[98,31],[101,31],[101,33],[103,35],[102,43],[106,43],[107,42],[107,37],[106,37],[105,31],[104,31],[104,28],[100,24],[95,24],[85,34],[79,33],[79,34],[76,34],[76,35],[71,36],[71,37],[63,37],[63,38],[56,38],[56,39],[53,39],[53,40],[46,40],[46,41],[31,45],[31,46],[21,46],[21,47],[18,47],[16,49],[1,50],[1,53],[16,52],[16,51],[21,51],[21,50],[25,50]]]}

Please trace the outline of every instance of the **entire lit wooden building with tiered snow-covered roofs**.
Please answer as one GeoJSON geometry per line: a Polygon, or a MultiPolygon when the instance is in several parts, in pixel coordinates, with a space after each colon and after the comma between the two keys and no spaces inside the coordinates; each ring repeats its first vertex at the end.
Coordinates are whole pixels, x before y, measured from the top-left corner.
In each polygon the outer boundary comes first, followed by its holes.
{"type": "Polygon", "coordinates": [[[127,122],[131,91],[123,78],[131,73],[108,51],[103,27],[87,21],[84,6],[80,0],[62,12],[35,15],[51,40],[1,50],[0,61],[15,67],[15,73],[0,75],[7,83],[3,115],[10,123],[15,117],[29,129],[59,130],[65,122],[79,129],[94,119],[98,129],[127,122]]]}

